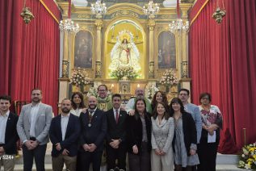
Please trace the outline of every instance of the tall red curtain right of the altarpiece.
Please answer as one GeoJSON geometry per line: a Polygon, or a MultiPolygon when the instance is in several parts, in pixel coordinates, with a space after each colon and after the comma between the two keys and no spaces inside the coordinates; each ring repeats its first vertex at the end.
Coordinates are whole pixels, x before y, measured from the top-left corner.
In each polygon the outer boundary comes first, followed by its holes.
{"type": "MultiPolygon", "coordinates": [[[[256,141],[256,2],[223,1],[227,14],[222,23],[212,19],[216,1],[210,0],[191,25],[191,98],[199,104],[200,93],[211,93],[212,104],[224,115],[224,129],[241,148],[243,128],[246,144],[256,141]]],[[[191,20],[193,10],[198,9],[191,10],[191,20]]]]}

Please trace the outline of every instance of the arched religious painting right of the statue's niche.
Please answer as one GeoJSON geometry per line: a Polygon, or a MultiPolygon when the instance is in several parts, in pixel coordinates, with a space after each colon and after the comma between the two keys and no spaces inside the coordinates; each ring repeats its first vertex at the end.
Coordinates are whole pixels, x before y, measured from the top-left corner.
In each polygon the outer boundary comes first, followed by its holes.
{"type": "Polygon", "coordinates": [[[176,69],[175,35],[170,31],[158,36],[158,69],[176,69]]]}

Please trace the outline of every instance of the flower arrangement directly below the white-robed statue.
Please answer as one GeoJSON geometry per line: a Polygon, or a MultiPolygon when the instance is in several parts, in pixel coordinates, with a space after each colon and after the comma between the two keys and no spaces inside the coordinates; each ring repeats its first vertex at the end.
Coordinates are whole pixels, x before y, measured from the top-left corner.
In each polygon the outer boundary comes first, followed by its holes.
{"type": "Polygon", "coordinates": [[[128,80],[132,80],[138,76],[138,73],[130,66],[128,67],[118,67],[111,72],[111,77],[116,77],[118,80],[121,80],[123,77],[127,77],[128,80]]]}

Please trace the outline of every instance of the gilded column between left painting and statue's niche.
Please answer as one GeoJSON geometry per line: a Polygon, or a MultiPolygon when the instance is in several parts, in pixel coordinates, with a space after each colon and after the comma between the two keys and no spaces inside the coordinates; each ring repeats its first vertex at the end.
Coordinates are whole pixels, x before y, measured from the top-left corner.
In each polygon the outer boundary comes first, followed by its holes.
{"type": "Polygon", "coordinates": [[[101,77],[101,29],[103,28],[103,20],[97,19],[95,21],[97,28],[97,41],[96,41],[96,62],[95,62],[95,77],[101,77]]]}

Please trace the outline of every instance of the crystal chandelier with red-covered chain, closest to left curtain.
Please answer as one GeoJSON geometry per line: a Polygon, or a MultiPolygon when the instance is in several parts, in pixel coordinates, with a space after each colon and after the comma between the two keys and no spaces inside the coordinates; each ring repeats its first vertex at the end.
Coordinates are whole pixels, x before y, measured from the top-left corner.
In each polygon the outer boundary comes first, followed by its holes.
{"type": "Polygon", "coordinates": [[[71,0],[69,0],[69,11],[68,11],[68,19],[61,20],[59,24],[59,28],[61,31],[67,33],[77,33],[79,31],[78,23],[73,23],[71,19],[71,0]]]}

